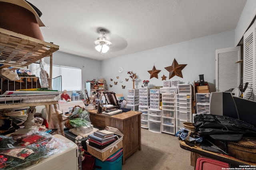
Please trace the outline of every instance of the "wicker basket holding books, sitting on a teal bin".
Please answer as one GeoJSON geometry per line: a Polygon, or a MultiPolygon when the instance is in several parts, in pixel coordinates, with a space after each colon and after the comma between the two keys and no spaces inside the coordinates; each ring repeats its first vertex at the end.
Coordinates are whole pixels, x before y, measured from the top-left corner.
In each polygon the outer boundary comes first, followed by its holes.
{"type": "Polygon", "coordinates": [[[112,154],[114,154],[116,151],[123,148],[123,137],[120,137],[120,139],[116,140],[114,143],[112,143],[111,145],[109,145],[108,147],[102,150],[90,146],[88,140],[86,141],[86,145],[87,145],[87,151],[90,154],[104,161],[108,157],[110,157],[112,154]]]}

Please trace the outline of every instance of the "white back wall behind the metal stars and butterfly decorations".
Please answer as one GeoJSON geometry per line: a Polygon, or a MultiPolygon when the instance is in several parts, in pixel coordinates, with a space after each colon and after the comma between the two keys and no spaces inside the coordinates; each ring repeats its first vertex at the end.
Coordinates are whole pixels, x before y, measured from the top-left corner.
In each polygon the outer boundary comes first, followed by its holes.
{"type": "Polygon", "coordinates": [[[169,80],[169,72],[165,67],[171,66],[175,58],[178,64],[187,65],[182,70],[183,78],[174,76],[170,80],[193,83],[199,80],[199,74],[204,74],[204,80],[210,84],[212,92],[215,91],[215,50],[227,47],[234,47],[234,30],[104,60],[101,63],[101,76],[107,81],[108,91],[124,94],[126,97],[127,89],[132,88],[131,78],[127,74],[128,70],[138,75],[135,88],[140,88],[143,80],[150,80],[150,87],[162,86],[163,74],[167,76],[166,80],[169,80]],[[161,70],[158,79],[150,79],[148,73],[154,65],[157,70],[161,70]],[[124,72],[119,73],[119,67],[123,67],[124,72]],[[110,78],[113,81],[110,81],[110,78]],[[129,78],[128,82],[126,78],[129,78]],[[118,84],[114,85],[114,82],[118,84]],[[122,85],[126,86],[125,89],[122,89],[122,85]]]}

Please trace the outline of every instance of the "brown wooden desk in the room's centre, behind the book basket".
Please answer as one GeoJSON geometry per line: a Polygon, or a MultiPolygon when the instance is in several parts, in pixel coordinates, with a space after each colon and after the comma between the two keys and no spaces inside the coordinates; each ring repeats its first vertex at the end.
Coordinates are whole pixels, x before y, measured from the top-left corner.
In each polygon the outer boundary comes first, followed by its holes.
{"type": "Polygon", "coordinates": [[[123,134],[123,160],[132,155],[136,150],[141,150],[141,129],[139,111],[128,111],[117,115],[103,115],[97,110],[88,110],[92,125],[104,129],[106,126],[118,128],[123,134]]]}

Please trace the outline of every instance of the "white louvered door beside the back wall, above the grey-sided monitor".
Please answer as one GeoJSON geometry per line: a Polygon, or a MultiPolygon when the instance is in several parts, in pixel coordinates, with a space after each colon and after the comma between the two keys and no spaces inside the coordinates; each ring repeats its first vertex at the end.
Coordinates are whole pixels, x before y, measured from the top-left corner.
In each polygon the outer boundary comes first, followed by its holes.
{"type": "Polygon", "coordinates": [[[236,88],[240,84],[241,47],[216,50],[216,92],[236,88]]]}

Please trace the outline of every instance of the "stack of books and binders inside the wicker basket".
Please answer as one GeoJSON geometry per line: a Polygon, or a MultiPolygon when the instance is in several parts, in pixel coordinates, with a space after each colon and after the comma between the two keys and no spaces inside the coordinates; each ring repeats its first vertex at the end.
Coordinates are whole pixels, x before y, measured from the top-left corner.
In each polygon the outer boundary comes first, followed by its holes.
{"type": "Polygon", "coordinates": [[[104,149],[108,145],[111,145],[119,137],[114,132],[108,130],[99,130],[93,134],[88,135],[89,145],[97,149],[104,149]]]}

